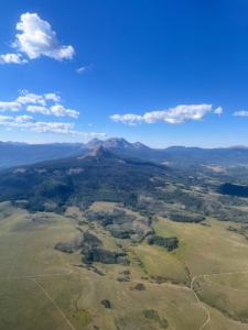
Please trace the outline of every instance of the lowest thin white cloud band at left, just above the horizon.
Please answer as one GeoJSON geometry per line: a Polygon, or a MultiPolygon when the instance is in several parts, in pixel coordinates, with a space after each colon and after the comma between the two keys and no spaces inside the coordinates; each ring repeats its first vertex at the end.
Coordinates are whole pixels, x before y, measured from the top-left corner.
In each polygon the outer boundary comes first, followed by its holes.
{"type": "Polygon", "coordinates": [[[61,122],[43,122],[35,121],[30,116],[19,117],[4,117],[0,114],[0,127],[7,127],[7,129],[20,128],[22,130],[30,130],[36,133],[54,133],[54,134],[71,134],[80,136],[105,136],[106,133],[84,133],[74,130],[74,123],[61,123],[61,122]]]}

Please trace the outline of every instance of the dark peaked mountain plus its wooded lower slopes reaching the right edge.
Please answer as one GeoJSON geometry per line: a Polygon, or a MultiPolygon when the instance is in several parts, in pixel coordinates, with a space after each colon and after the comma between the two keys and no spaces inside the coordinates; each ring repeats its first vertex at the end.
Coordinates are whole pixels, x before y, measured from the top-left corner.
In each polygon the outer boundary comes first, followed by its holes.
{"type": "MultiPolygon", "coordinates": [[[[231,211],[218,200],[204,197],[209,190],[219,191],[224,202],[234,202],[235,199],[226,196],[247,196],[246,183],[235,183],[226,173],[211,172],[209,175],[208,172],[205,167],[175,169],[122,157],[98,145],[86,155],[1,170],[0,201],[12,200],[30,212],[64,212],[68,206],[85,210],[94,201],[114,201],[145,217],[158,213],[174,221],[197,222],[205,215],[220,220],[248,221],[248,213],[231,211]],[[226,185],[228,182],[231,185],[226,185]],[[197,193],[194,187],[198,188],[197,193]],[[201,216],[192,217],[187,212],[201,216]]],[[[239,199],[238,202],[244,204],[239,199]]]]}

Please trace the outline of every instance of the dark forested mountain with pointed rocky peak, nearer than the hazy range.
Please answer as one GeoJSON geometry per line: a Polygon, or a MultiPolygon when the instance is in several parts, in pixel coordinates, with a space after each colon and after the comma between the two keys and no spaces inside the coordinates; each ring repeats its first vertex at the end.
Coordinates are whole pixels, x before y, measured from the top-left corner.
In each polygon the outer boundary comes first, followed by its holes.
{"type": "Polygon", "coordinates": [[[172,173],[164,165],[121,157],[100,145],[84,156],[0,172],[0,201],[24,199],[30,210],[87,207],[95,200],[133,206],[140,194],[155,191],[161,177],[172,173]]]}

